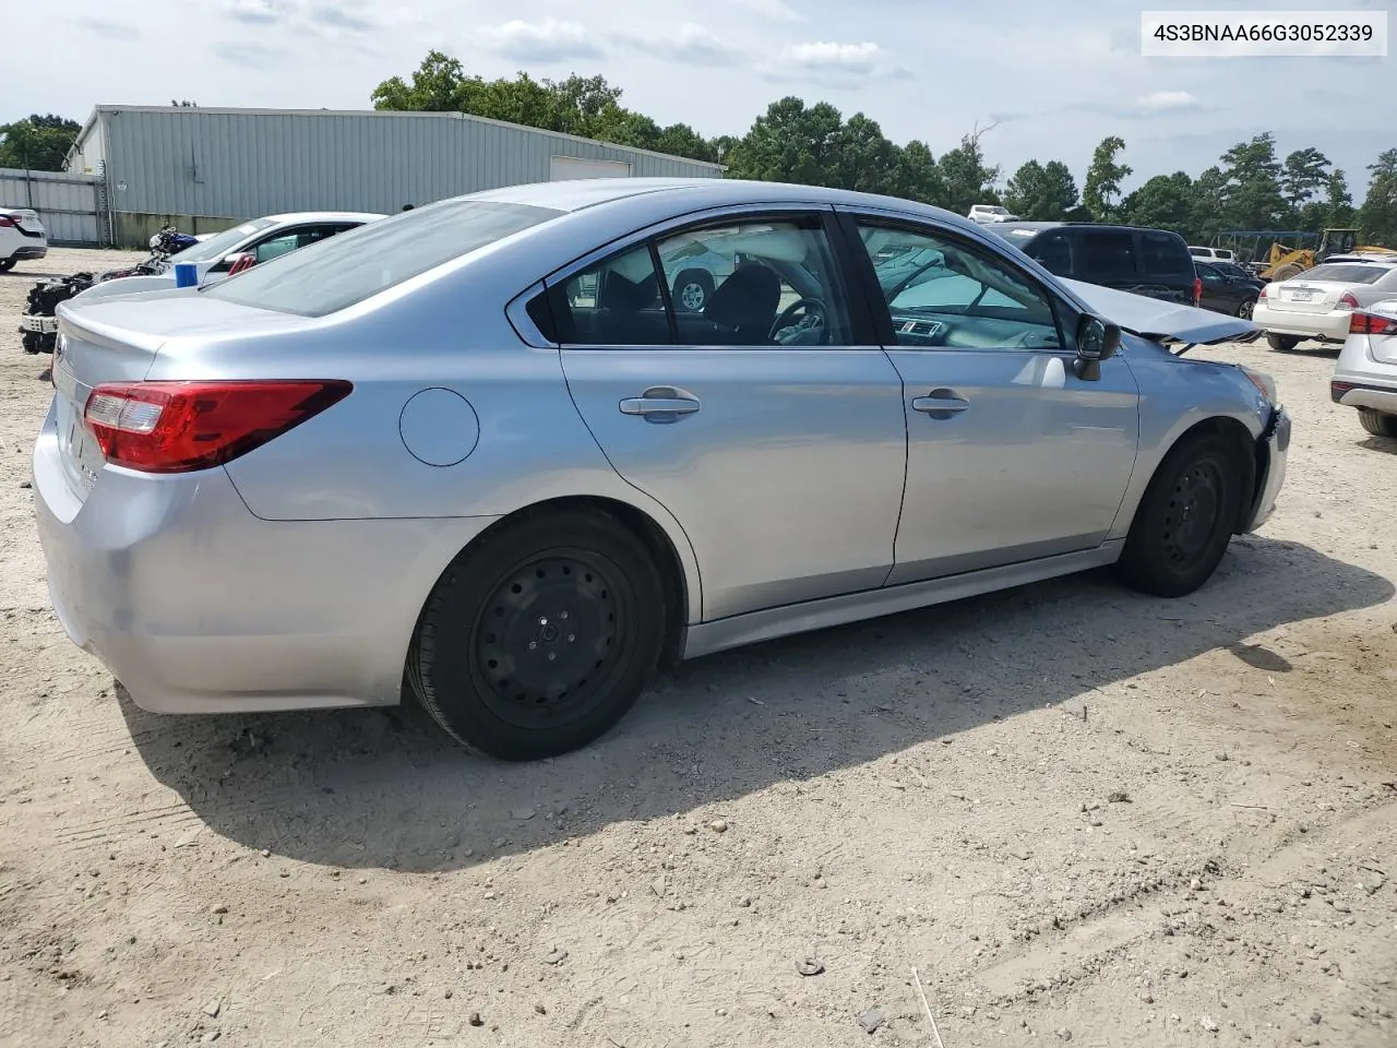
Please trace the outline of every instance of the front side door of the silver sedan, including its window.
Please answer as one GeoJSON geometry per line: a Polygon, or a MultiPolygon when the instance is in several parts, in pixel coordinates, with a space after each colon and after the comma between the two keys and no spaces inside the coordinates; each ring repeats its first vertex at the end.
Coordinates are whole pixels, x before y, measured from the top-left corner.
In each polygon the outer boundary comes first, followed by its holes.
{"type": "Polygon", "coordinates": [[[849,217],[904,383],[907,493],[890,584],[1098,546],[1134,468],[1139,387],[1123,356],[1073,369],[1076,314],[1010,256],[886,214],[849,217]],[[932,249],[880,279],[890,245],[932,249]]]}

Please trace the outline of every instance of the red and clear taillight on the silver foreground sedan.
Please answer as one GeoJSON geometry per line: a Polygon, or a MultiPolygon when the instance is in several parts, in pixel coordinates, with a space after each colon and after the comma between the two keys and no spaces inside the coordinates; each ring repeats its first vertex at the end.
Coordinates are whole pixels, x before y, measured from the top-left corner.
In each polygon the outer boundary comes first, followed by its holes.
{"type": "Polygon", "coordinates": [[[92,390],[82,419],[106,461],[182,474],[244,456],[352,388],[337,379],[109,383],[92,390]]]}

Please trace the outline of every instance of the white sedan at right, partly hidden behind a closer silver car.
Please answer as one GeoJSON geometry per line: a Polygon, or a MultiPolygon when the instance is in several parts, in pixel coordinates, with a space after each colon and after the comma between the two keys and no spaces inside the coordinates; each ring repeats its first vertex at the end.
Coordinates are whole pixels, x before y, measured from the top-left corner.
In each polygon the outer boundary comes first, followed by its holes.
{"type": "Polygon", "coordinates": [[[1397,293],[1397,259],[1326,261],[1288,281],[1261,288],[1252,320],[1273,349],[1315,338],[1343,342],[1355,309],[1397,293]]]}

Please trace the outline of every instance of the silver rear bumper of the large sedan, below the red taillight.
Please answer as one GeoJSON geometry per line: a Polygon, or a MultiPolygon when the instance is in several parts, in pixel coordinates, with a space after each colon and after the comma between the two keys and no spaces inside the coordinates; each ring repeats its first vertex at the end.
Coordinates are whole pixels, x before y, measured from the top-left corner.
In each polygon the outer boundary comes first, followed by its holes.
{"type": "Polygon", "coordinates": [[[106,467],[82,502],[52,411],[34,496],[64,632],[156,713],[398,701],[427,592],[493,520],[264,521],[224,470],[106,467]]]}

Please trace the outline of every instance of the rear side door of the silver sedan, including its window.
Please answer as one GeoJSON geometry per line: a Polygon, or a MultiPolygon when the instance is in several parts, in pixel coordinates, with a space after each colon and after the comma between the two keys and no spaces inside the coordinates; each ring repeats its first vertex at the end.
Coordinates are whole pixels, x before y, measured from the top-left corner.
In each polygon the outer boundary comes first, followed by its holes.
{"type": "Polygon", "coordinates": [[[831,219],[725,214],[548,281],[573,401],[683,527],[705,620],[877,588],[893,566],[901,380],[851,309],[831,219]],[[698,256],[725,260],[712,293],[675,309],[661,260],[698,256]]]}

